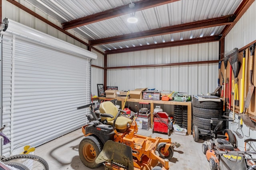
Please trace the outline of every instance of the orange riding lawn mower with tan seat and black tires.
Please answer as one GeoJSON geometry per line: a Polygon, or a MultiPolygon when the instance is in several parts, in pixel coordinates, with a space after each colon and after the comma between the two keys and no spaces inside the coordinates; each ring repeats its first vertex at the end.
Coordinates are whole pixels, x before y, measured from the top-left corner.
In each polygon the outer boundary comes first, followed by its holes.
{"type": "Polygon", "coordinates": [[[171,138],[147,137],[137,134],[135,115],[126,114],[111,101],[102,102],[97,117],[93,104],[89,123],[82,127],[84,139],[79,144],[79,156],[88,168],[104,164],[107,170],[168,170],[174,147],[171,138]],[[158,154],[156,153],[158,151],[158,154]]]}

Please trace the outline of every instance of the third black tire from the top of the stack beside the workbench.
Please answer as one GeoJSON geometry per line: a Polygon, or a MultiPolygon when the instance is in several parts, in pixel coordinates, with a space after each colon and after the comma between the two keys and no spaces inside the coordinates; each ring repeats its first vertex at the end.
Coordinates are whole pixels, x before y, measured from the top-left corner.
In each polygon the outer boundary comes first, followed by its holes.
{"type": "MultiPolygon", "coordinates": [[[[213,122],[212,123],[213,127],[216,127],[216,125],[218,124],[218,122],[220,120],[212,120],[212,119],[206,119],[206,118],[202,118],[202,117],[193,116],[193,125],[196,125],[200,129],[210,130],[210,128],[211,128],[210,121],[213,122]]],[[[220,129],[222,129],[222,126],[220,126],[218,128],[218,130],[220,130],[220,129]]]]}

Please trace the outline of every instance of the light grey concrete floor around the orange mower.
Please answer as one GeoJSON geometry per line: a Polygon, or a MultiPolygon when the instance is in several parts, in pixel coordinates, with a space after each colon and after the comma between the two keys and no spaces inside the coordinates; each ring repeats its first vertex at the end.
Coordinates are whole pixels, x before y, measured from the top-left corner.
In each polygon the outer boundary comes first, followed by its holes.
{"type": "MultiPolygon", "coordinates": [[[[165,134],[151,133],[152,130],[139,130],[139,134],[152,135],[152,137],[168,138],[165,134]]],[[[44,158],[50,170],[90,170],[81,162],[78,146],[83,139],[81,129],[68,133],[58,139],[36,147],[35,154],[44,158]]],[[[171,135],[172,142],[180,143],[179,148],[174,148],[174,156],[170,159],[170,170],[210,170],[209,162],[202,152],[202,143],[195,142],[192,135],[171,135]]],[[[104,170],[100,166],[95,170],[104,170]]]]}

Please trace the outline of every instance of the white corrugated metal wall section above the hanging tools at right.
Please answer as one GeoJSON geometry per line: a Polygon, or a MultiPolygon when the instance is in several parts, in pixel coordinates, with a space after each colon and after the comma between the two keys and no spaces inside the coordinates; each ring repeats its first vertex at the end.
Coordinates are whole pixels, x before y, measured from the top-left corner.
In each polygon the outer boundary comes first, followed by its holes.
{"type": "Polygon", "coordinates": [[[256,2],[254,1],[225,37],[225,51],[230,51],[234,48],[240,49],[256,39],[255,16],[256,2]]]}

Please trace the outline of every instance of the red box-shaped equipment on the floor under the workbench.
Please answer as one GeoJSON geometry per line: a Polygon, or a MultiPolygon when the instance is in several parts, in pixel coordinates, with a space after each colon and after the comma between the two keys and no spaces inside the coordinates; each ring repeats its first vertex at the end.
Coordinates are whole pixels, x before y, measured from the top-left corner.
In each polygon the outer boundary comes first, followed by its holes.
{"type": "Polygon", "coordinates": [[[152,133],[168,133],[168,114],[166,112],[158,112],[154,114],[154,126],[152,133]]]}

